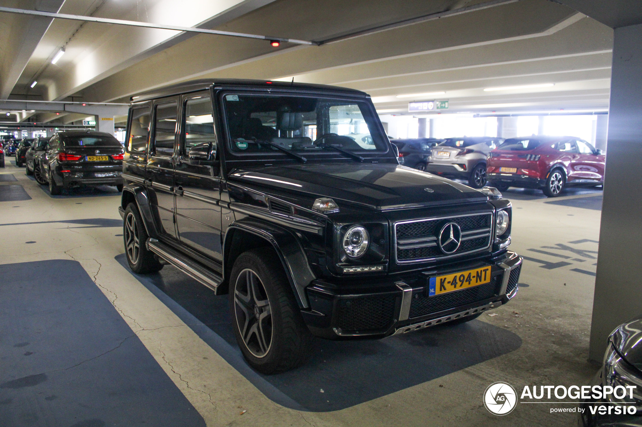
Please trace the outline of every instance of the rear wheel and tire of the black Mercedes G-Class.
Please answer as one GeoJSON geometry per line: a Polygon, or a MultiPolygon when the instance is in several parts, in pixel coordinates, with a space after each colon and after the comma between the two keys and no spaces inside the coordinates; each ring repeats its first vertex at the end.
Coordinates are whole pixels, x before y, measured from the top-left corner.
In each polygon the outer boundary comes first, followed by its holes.
{"type": "Polygon", "coordinates": [[[127,263],[134,273],[155,273],[163,268],[163,264],[160,264],[154,253],[147,250],[145,246],[148,237],[138,207],[130,203],[125,209],[123,243],[125,244],[127,263]]]}

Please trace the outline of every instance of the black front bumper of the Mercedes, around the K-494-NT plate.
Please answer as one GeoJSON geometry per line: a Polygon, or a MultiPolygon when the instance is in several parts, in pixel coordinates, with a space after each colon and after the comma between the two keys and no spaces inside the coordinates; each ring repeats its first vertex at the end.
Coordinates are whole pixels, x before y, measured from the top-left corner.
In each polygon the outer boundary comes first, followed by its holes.
{"type": "Polygon", "coordinates": [[[327,339],[404,334],[507,303],[517,293],[522,260],[514,252],[506,252],[492,260],[462,262],[443,270],[414,271],[363,291],[315,280],[306,288],[311,310],[302,311],[302,315],[314,335],[327,339]],[[482,264],[491,266],[488,284],[428,296],[429,277],[471,270],[482,264]]]}

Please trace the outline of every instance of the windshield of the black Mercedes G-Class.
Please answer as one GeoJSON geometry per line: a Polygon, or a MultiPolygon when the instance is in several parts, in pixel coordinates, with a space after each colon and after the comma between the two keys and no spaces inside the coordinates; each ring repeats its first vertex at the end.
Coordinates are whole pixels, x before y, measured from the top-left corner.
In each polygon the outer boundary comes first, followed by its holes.
{"type": "Polygon", "coordinates": [[[328,145],[361,153],[388,149],[366,102],[241,94],[223,101],[230,149],[238,154],[278,152],[274,145],[306,156],[332,152],[328,145]]]}

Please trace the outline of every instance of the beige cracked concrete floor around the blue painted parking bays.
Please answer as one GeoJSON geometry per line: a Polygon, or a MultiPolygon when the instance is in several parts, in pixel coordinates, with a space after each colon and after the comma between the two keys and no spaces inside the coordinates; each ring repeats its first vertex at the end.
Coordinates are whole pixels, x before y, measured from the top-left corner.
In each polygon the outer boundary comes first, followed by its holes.
{"type": "MultiPolygon", "coordinates": [[[[536,191],[507,192],[514,205],[511,248],[531,259],[525,261],[520,280],[528,286],[522,285],[512,302],[494,310],[497,316],[484,314],[480,320],[519,335],[520,348],[343,410],[304,412],[268,399],[114,259],[124,252],[122,229],[112,226],[121,220],[118,193],[89,191],[51,198],[24,175],[24,168],[7,161],[0,173],[13,173],[18,180],[0,186],[20,184],[31,197],[0,202],[0,264],[80,262],[208,426],[576,424],[572,414],[550,414],[555,405],[518,405],[511,414],[496,417],[483,407],[482,393],[496,381],[508,382],[518,391],[535,384],[582,385],[596,371],[586,358],[598,210],[550,204],[536,191]],[[92,218],[106,221],[64,222],[92,218]],[[241,415],[243,410],[247,412],[241,415]]],[[[562,200],[596,195],[594,191],[568,194],[562,200]]]]}

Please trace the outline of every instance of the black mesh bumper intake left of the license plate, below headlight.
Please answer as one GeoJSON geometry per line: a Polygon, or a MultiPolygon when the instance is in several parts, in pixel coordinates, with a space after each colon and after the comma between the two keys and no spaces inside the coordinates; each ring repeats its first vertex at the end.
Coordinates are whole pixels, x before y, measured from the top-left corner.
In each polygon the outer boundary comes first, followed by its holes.
{"type": "Polygon", "coordinates": [[[395,298],[395,295],[382,295],[339,300],[336,326],[343,332],[385,328],[394,318],[395,298]]]}

